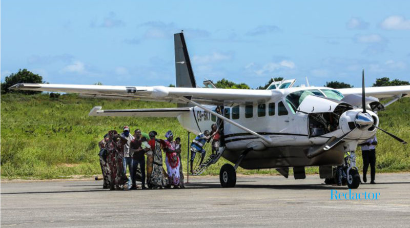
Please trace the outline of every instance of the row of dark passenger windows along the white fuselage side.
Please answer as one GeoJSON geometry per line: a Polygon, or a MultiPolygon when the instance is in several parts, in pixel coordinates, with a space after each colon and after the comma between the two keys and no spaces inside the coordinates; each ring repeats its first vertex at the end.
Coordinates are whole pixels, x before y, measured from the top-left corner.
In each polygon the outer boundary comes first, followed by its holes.
{"type": "MultiPolygon", "coordinates": [[[[226,118],[231,118],[231,110],[232,110],[232,119],[239,119],[239,106],[232,107],[232,109],[229,107],[224,108],[223,115],[226,118]]],[[[258,117],[266,116],[266,110],[267,110],[267,107],[265,103],[259,104],[257,106],[258,117]]],[[[275,115],[275,103],[268,104],[268,115],[270,116],[275,115]]],[[[288,115],[288,110],[286,110],[282,101],[278,103],[278,115],[279,116],[288,115]]],[[[252,117],[253,117],[253,105],[245,106],[245,118],[252,118],[252,117]]]]}

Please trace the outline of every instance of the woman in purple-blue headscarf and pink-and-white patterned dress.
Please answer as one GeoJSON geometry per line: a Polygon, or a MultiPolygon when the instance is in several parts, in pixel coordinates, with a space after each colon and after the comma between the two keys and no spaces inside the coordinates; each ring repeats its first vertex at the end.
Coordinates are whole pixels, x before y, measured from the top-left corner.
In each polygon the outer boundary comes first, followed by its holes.
{"type": "Polygon", "coordinates": [[[178,154],[176,152],[176,143],[174,141],[174,134],[171,130],[169,130],[165,137],[165,145],[163,147],[163,151],[166,153],[165,157],[165,164],[167,165],[167,172],[168,172],[168,186],[174,186],[174,188],[179,188],[179,166],[180,160],[178,154]]]}

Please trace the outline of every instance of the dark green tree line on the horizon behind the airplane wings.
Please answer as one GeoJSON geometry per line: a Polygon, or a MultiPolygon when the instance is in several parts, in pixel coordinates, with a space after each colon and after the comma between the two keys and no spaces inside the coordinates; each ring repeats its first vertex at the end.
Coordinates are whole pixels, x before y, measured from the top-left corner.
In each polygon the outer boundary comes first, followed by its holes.
{"type": "MultiPolygon", "coordinates": [[[[283,77],[275,77],[271,78],[265,85],[259,86],[255,89],[257,90],[265,90],[271,85],[273,81],[281,81],[283,77]]],[[[19,69],[17,73],[12,73],[9,76],[6,76],[4,82],[1,83],[1,93],[5,94],[11,92],[8,88],[17,84],[17,83],[47,83],[43,81],[43,77],[34,74],[33,72],[27,69],[19,69]]],[[[101,82],[97,82],[95,85],[102,85],[101,82]]],[[[241,82],[236,83],[234,81],[230,81],[228,79],[222,78],[215,83],[217,88],[221,89],[251,89],[250,86],[241,82]]],[[[410,85],[408,81],[402,81],[399,79],[390,80],[388,77],[377,78],[373,84],[373,87],[380,87],[380,86],[402,86],[402,85],[410,85]]],[[[169,85],[169,87],[175,87],[175,85],[169,85]]],[[[326,81],[324,87],[330,87],[334,89],[342,89],[342,88],[353,88],[352,85],[347,84],[345,82],[340,81],[326,81]]],[[[14,92],[24,93],[24,94],[36,94],[41,93],[40,91],[29,91],[29,90],[16,90],[14,92]]]]}

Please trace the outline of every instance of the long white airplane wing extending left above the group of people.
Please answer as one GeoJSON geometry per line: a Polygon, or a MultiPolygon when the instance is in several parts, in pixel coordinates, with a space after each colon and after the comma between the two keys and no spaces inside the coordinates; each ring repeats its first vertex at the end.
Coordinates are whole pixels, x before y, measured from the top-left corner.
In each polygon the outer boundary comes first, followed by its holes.
{"type": "Polygon", "coordinates": [[[9,89],[79,93],[85,97],[136,99],[174,103],[187,103],[188,98],[209,105],[263,102],[271,99],[275,95],[281,96],[279,91],[274,90],[183,88],[164,86],[140,87],[20,83],[9,89]]]}

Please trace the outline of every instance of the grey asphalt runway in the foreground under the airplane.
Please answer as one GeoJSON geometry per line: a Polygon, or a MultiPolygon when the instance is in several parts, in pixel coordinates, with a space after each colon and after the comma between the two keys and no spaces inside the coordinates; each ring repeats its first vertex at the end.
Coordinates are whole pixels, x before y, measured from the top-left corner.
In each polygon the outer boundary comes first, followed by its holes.
{"type": "MultiPolygon", "coordinates": [[[[354,193],[377,200],[331,200],[318,176],[190,178],[182,190],[108,191],[102,181],[2,182],[1,226],[17,227],[409,227],[410,173],[378,174],[354,193]]],[[[334,192],[333,192],[334,193],[334,192]]]]}

